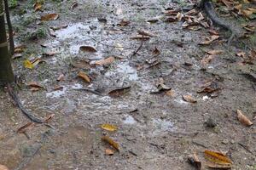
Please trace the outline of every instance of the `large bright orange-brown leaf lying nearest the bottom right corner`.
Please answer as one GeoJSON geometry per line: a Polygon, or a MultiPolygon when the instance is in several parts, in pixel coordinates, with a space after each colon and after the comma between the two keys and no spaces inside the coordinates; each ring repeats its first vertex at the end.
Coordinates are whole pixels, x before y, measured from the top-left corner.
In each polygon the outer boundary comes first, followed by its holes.
{"type": "Polygon", "coordinates": [[[223,153],[213,150],[205,150],[205,157],[207,160],[212,161],[214,163],[220,164],[220,165],[230,165],[232,164],[232,161],[230,158],[225,156],[223,153]]]}

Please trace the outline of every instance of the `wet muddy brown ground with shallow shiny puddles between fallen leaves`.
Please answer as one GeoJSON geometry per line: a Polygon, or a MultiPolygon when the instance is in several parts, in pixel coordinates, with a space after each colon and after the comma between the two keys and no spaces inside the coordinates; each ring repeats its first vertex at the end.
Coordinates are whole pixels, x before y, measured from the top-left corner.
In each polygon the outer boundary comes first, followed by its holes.
{"type": "Polygon", "coordinates": [[[15,73],[24,82],[44,86],[32,92],[22,85],[20,99],[38,117],[55,116],[49,121],[51,127],[38,124],[27,130],[28,139],[16,131],[29,120],[1,91],[0,164],[27,170],[195,169],[187,161],[189,155],[196,152],[204,160],[204,150],[218,150],[233,161],[232,169],[255,170],[256,78],[252,75],[256,67],[241,65],[236,53],[244,51],[243,46],[235,41],[228,50],[223,37],[223,42],[202,47],[198,44],[209,37],[207,29],[188,31],[182,22],[147,22],[162,18],[166,8],[189,5],[187,1],[77,2],[78,7],[70,9],[71,1],[49,1],[44,12],[33,12],[28,1],[12,10],[16,43],[26,45],[22,58],[13,61],[15,73]],[[26,13],[18,14],[24,8],[26,13]],[[38,18],[49,13],[60,18],[38,24],[38,18]],[[131,23],[119,26],[121,20],[131,23]],[[55,37],[33,41],[26,37],[52,26],[63,26],[55,37]],[[143,42],[131,39],[138,30],[154,37],[143,42]],[[80,46],[94,47],[96,53],[81,51],[80,46]],[[155,55],[155,48],[160,54],[155,55]],[[224,53],[202,65],[201,59],[212,49],[224,53]],[[32,70],[24,68],[25,59],[49,52],[55,55],[32,70]],[[115,59],[110,65],[94,65],[110,56],[115,59]],[[86,72],[91,82],[77,77],[79,71],[86,72]],[[64,80],[58,82],[61,74],[64,80]],[[214,82],[217,92],[198,93],[206,82],[214,82]],[[162,83],[172,90],[155,93],[162,83]],[[56,86],[62,88],[55,90],[56,86]],[[130,87],[125,94],[108,94],[124,87],[130,87]],[[184,101],[187,94],[197,102],[184,101]],[[238,122],[236,110],[254,125],[238,122]],[[216,126],[207,127],[207,120],[216,126]],[[118,130],[104,131],[104,123],[118,130]],[[111,148],[101,139],[106,134],[120,145],[113,156],[105,154],[111,148]]]}

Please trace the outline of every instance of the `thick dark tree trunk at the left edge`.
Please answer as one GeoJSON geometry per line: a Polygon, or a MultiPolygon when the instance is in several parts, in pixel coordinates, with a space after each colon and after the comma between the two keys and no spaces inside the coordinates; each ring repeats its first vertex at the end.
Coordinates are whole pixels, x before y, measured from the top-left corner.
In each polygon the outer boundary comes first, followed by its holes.
{"type": "Polygon", "coordinates": [[[3,0],[0,0],[0,83],[14,82],[15,76],[12,69],[8,42],[6,38],[3,0]]]}

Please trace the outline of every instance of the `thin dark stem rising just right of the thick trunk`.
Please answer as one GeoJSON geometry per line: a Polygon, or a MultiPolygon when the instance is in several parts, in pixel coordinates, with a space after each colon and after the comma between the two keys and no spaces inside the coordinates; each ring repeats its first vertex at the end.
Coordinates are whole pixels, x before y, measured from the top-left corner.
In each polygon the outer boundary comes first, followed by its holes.
{"type": "Polygon", "coordinates": [[[11,24],[11,20],[9,16],[8,0],[4,0],[3,2],[4,2],[6,20],[7,20],[8,31],[9,31],[9,51],[10,51],[10,54],[13,55],[15,54],[14,31],[13,31],[13,26],[11,24]]]}

